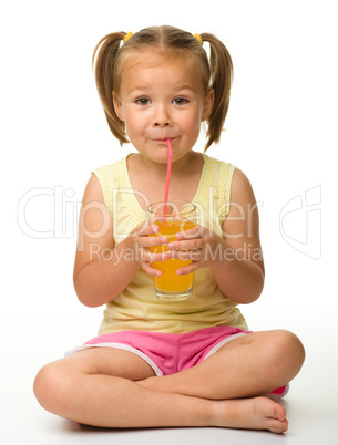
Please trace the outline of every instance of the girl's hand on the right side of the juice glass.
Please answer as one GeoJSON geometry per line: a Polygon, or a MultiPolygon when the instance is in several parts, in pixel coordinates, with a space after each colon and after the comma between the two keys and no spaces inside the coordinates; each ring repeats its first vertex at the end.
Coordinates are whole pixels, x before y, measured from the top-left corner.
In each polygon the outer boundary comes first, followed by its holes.
{"type": "Polygon", "coordinates": [[[167,245],[171,258],[192,260],[192,262],[177,270],[177,275],[195,272],[203,267],[217,268],[222,265],[222,252],[226,241],[207,229],[196,225],[193,229],[178,232],[177,241],[167,245]]]}

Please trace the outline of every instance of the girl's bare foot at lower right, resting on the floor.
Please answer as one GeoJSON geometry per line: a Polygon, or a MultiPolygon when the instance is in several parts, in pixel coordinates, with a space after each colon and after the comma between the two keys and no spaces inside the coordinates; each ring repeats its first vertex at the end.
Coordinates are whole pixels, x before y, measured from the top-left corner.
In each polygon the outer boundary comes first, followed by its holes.
{"type": "Polygon", "coordinates": [[[236,399],[217,402],[217,426],[229,428],[287,431],[285,408],[270,399],[236,399]]]}

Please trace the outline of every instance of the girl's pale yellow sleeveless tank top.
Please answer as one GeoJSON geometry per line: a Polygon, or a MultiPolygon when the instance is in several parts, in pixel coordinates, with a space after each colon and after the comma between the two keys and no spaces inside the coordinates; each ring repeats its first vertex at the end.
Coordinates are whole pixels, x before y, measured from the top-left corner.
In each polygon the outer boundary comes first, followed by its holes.
{"type": "MultiPolygon", "coordinates": [[[[193,203],[203,208],[198,224],[222,236],[222,225],[229,211],[235,167],[207,155],[203,157],[204,166],[193,203]]],[[[126,159],[94,172],[113,218],[115,245],[146,219],[133,192],[126,159]]],[[[192,297],[176,302],[157,299],[153,278],[141,269],[123,292],[106,304],[103,315],[100,335],[124,330],[185,333],[224,324],[248,329],[237,303],[221,292],[208,268],[195,272],[192,297]]]]}

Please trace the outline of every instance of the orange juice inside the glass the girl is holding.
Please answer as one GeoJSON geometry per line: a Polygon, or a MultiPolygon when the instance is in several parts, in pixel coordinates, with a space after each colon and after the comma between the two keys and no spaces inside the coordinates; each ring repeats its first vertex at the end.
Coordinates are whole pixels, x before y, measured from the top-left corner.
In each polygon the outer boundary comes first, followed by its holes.
{"type": "MultiPolygon", "coordinates": [[[[195,227],[190,220],[170,220],[165,224],[163,221],[156,221],[160,227],[160,231],[156,235],[151,236],[166,236],[168,242],[176,241],[175,235],[180,231],[188,230],[195,227]]],[[[150,248],[151,252],[162,253],[167,251],[167,246],[155,246],[150,248]]],[[[162,271],[161,277],[154,277],[155,292],[157,297],[167,300],[184,300],[192,293],[194,273],[178,276],[176,270],[190,265],[191,260],[181,260],[175,258],[168,258],[165,261],[154,261],[152,266],[155,269],[162,271]]]]}

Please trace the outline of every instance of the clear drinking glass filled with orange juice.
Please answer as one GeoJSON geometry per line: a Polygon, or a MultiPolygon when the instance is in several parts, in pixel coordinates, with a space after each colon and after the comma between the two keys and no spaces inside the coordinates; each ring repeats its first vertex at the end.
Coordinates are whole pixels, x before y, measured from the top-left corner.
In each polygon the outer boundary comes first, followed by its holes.
{"type": "MultiPolygon", "coordinates": [[[[147,220],[160,227],[157,234],[151,236],[166,236],[168,242],[176,241],[176,234],[195,227],[196,207],[188,201],[168,201],[164,213],[164,203],[154,203],[147,207],[147,220]]],[[[167,251],[167,245],[151,247],[153,253],[167,251]]],[[[190,265],[191,260],[168,258],[165,261],[154,261],[152,266],[162,271],[154,277],[156,296],[162,300],[177,301],[187,299],[193,291],[194,273],[178,276],[177,269],[190,265]]]]}

